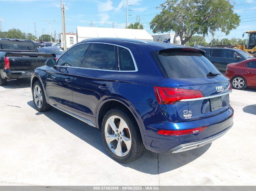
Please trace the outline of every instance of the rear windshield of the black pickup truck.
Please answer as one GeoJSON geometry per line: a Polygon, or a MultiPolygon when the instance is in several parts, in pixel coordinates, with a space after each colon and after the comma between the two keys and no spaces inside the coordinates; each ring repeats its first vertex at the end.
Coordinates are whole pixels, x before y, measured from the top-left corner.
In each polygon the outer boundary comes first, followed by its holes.
{"type": "Polygon", "coordinates": [[[32,42],[24,41],[0,41],[0,49],[2,50],[32,50],[35,51],[35,46],[32,42]]]}

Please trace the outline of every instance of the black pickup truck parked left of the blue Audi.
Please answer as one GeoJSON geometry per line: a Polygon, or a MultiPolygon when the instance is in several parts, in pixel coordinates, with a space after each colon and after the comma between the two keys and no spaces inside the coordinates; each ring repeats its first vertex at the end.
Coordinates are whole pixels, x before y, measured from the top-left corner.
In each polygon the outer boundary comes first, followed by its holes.
{"type": "Polygon", "coordinates": [[[7,79],[30,78],[35,68],[55,54],[38,53],[31,40],[0,38],[0,85],[7,79]]]}

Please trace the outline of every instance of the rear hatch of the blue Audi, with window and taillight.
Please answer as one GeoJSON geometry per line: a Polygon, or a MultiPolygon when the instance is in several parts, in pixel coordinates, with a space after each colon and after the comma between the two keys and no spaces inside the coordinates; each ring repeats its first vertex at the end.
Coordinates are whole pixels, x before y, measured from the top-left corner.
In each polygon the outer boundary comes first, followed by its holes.
{"type": "Polygon", "coordinates": [[[171,122],[218,115],[230,108],[231,86],[198,49],[165,49],[151,53],[164,79],[154,85],[159,106],[171,122]]]}

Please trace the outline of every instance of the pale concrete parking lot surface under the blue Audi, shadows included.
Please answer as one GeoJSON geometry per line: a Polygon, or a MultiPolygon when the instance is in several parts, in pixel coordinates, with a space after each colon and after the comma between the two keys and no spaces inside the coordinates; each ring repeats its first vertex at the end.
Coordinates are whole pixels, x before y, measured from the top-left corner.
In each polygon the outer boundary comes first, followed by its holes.
{"type": "Polygon", "coordinates": [[[256,89],[233,90],[234,126],[211,144],[120,164],[99,129],[34,109],[30,79],[0,86],[0,185],[256,185],[256,89]]]}

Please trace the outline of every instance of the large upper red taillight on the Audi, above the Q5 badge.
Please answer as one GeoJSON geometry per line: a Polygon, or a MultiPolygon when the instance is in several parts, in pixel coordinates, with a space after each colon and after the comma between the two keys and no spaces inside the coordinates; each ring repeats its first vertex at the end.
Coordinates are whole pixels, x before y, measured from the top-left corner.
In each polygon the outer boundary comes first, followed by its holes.
{"type": "Polygon", "coordinates": [[[165,88],[154,86],[155,97],[159,104],[174,104],[184,99],[204,97],[199,90],[188,90],[179,88],[165,88]]]}

